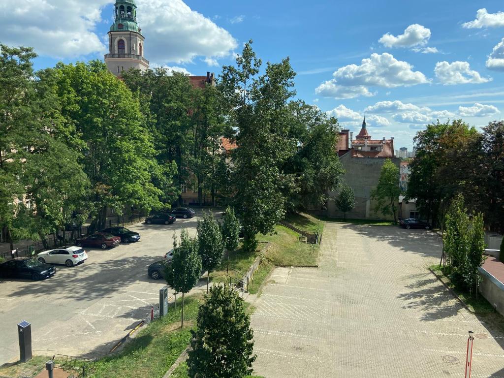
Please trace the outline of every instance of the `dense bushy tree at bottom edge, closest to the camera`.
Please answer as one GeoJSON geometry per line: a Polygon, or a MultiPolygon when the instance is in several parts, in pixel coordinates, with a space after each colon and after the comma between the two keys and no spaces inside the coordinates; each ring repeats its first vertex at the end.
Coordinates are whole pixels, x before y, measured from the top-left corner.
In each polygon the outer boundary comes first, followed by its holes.
{"type": "Polygon", "coordinates": [[[200,305],[187,359],[192,378],[242,378],[253,372],[254,332],[243,301],[228,285],[217,285],[200,305]]]}

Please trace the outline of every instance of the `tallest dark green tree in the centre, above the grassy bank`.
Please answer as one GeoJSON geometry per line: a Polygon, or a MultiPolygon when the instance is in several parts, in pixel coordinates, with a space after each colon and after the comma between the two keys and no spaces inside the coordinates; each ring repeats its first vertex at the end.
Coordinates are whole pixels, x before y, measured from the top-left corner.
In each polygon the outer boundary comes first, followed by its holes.
{"type": "Polygon", "coordinates": [[[227,120],[236,130],[233,153],[234,208],[244,226],[244,248],[257,247],[256,234],[273,231],[285,215],[282,190],[289,178],[281,167],[294,153],[289,138],[287,101],[295,92],[289,59],[268,63],[259,76],[261,59],[246,43],[236,67],[223,67],[219,90],[228,104],[227,120]]]}

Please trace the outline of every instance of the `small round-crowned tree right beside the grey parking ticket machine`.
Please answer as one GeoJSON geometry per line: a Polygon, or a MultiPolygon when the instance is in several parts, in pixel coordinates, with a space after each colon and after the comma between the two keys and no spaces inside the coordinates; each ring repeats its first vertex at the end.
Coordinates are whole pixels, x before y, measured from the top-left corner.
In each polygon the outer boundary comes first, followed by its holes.
{"type": "Polygon", "coordinates": [[[198,238],[190,238],[187,230],[180,233],[180,242],[173,235],[173,258],[166,268],[166,282],[182,293],[182,324],[184,326],[184,294],[191,291],[201,276],[201,256],[198,253],[198,238]]]}

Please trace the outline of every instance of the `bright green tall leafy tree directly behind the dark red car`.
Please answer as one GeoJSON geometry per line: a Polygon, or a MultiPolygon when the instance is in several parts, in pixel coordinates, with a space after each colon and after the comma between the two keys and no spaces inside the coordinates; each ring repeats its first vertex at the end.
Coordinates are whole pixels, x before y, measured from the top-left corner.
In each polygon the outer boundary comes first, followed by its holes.
{"type": "Polygon", "coordinates": [[[159,209],[162,176],[138,96],[99,61],[56,67],[62,114],[85,143],[82,164],[91,182],[92,228],[105,226],[108,208],[159,209]]]}

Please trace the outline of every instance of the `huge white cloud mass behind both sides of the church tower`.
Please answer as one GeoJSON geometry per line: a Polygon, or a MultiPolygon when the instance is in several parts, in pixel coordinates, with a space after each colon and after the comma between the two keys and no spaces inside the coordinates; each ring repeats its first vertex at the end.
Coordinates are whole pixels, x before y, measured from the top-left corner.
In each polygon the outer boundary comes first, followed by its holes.
{"type": "MultiPolygon", "coordinates": [[[[146,37],[145,56],[151,62],[192,61],[196,56],[228,56],[236,40],[182,0],[138,0],[138,18],[146,37]]],[[[111,13],[112,0],[3,0],[0,40],[35,47],[40,55],[57,58],[106,53],[96,34],[101,14],[111,13]]]]}

